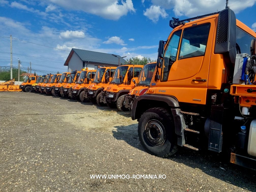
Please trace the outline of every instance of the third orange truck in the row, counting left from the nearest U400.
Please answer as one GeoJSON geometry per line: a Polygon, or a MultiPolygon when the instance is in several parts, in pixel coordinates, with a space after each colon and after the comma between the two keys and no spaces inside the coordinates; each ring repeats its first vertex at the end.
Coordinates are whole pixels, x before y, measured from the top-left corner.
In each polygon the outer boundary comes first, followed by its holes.
{"type": "Polygon", "coordinates": [[[89,99],[91,102],[96,100],[98,105],[103,105],[100,102],[101,91],[109,85],[116,67],[100,67],[97,69],[92,83],[88,86],[84,100],[89,99]]]}

